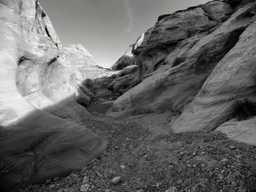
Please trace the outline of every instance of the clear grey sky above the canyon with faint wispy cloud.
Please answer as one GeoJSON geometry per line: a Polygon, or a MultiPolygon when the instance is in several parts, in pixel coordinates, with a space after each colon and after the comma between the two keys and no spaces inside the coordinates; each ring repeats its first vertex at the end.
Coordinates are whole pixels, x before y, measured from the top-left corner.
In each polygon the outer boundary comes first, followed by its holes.
{"type": "Polygon", "coordinates": [[[159,15],[209,0],[40,0],[64,46],[82,44],[99,66],[116,63],[159,15]]]}

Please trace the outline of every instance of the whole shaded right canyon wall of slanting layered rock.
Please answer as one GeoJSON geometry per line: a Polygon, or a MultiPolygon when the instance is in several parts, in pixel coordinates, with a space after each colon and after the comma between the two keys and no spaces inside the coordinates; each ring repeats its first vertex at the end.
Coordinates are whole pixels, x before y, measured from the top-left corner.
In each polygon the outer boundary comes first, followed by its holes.
{"type": "Polygon", "coordinates": [[[211,1],[159,17],[132,52],[142,82],[108,115],[167,110],[176,132],[225,123],[238,100],[255,102],[255,14],[255,1],[211,1]]]}

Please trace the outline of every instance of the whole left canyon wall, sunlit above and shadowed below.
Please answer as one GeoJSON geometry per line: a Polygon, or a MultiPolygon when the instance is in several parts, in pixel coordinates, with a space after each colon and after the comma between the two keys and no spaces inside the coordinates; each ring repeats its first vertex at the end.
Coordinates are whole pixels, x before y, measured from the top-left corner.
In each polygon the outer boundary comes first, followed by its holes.
{"type": "Polygon", "coordinates": [[[0,26],[1,186],[42,182],[100,155],[106,142],[81,125],[89,112],[76,102],[91,55],[62,48],[35,0],[1,0],[0,26]]]}

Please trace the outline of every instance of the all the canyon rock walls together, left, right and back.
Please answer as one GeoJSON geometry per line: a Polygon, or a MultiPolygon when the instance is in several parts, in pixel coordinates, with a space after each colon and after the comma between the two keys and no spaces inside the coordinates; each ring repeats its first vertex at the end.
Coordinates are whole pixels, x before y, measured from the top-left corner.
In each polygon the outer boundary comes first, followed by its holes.
{"type": "Polygon", "coordinates": [[[106,141],[81,123],[91,101],[116,99],[112,117],[168,111],[173,131],[217,130],[256,145],[253,0],[160,16],[113,70],[82,45],[62,47],[36,0],[0,0],[0,26],[0,190],[102,154],[106,141]]]}

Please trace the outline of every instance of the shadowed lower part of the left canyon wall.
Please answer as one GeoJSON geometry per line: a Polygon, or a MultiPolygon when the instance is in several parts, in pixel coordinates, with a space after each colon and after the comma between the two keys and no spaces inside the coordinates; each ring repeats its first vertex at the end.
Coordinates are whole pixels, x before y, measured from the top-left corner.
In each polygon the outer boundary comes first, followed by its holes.
{"type": "Polygon", "coordinates": [[[81,122],[89,116],[72,98],[0,128],[0,191],[42,183],[85,166],[107,142],[81,122]]]}

